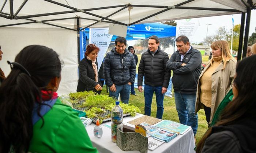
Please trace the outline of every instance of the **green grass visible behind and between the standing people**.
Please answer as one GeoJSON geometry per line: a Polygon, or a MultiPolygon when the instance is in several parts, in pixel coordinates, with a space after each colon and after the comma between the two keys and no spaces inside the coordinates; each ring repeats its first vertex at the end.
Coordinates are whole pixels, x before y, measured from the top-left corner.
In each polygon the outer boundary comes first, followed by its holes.
{"type": "MultiPolygon", "coordinates": [[[[140,61],[141,55],[138,54],[138,59],[140,61]]],[[[208,61],[208,56],[202,56],[203,62],[208,61]]],[[[139,67],[139,62],[137,64],[137,72],[138,72],[138,67],[139,67]]],[[[140,93],[138,89],[135,88],[136,96],[131,95],[129,99],[129,103],[132,105],[135,105],[140,108],[141,113],[144,114],[144,93],[140,93]]],[[[102,94],[107,94],[106,93],[106,87],[103,87],[102,94]]],[[[173,94],[174,95],[174,94],[173,94]]],[[[174,97],[166,97],[163,101],[163,118],[162,119],[168,119],[171,121],[179,122],[178,119],[178,113],[176,111],[175,107],[175,101],[174,97]]],[[[156,117],[156,112],[157,112],[157,103],[155,99],[155,95],[153,95],[153,100],[152,100],[152,105],[151,105],[151,116],[156,117]]],[[[200,138],[203,136],[203,134],[206,132],[208,129],[208,125],[206,122],[206,117],[204,114],[204,110],[200,110],[198,113],[198,129],[197,129],[197,134],[196,134],[196,142],[200,140],[200,138]]]]}

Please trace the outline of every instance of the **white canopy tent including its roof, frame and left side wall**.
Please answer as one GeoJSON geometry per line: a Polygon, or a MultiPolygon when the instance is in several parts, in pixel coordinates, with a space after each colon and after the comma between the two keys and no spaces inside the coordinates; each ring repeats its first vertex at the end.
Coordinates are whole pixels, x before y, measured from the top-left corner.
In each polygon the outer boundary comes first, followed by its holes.
{"type": "Polygon", "coordinates": [[[67,94],[76,91],[78,81],[80,28],[108,27],[112,23],[129,26],[235,13],[242,16],[239,58],[245,13],[244,48],[248,41],[250,12],[255,3],[256,0],[0,0],[0,44],[4,52],[0,66],[9,74],[6,60],[13,61],[27,45],[53,48],[65,63],[59,94],[67,94]]]}

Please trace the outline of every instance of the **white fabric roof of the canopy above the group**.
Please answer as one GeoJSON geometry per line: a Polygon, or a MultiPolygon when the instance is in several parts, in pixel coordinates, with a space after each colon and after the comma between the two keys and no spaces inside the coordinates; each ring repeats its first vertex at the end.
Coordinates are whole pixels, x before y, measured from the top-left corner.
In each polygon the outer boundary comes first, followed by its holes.
{"type": "MultiPolygon", "coordinates": [[[[0,14],[2,16],[0,17],[0,26],[33,22],[31,20],[20,19],[25,17],[34,21],[45,21],[63,18],[74,18],[79,16],[81,18],[80,27],[89,26],[90,28],[98,28],[108,27],[109,23],[117,22],[127,25],[134,23],[150,23],[166,20],[188,19],[195,17],[218,16],[246,12],[245,0],[25,0],[25,2],[25,5],[18,12],[15,19],[6,20],[3,17],[5,17],[5,15],[8,16],[11,14],[10,2],[9,0],[1,0],[0,7],[3,6],[3,4],[5,5],[3,10],[0,11],[2,12],[2,14],[0,14]],[[128,6],[132,6],[130,12],[128,8],[131,7],[128,6]],[[174,6],[176,7],[174,8],[174,6]],[[187,9],[188,7],[193,8],[187,9]],[[116,12],[118,10],[119,12],[116,12]],[[65,13],[59,14],[56,12],[65,13]],[[108,17],[114,12],[116,12],[114,15],[108,17]],[[45,13],[52,13],[55,15],[45,13]],[[37,17],[33,17],[35,15],[37,17]],[[151,15],[152,17],[149,17],[151,15]],[[108,17],[108,19],[104,19],[97,24],[91,25],[95,23],[95,21],[99,21],[104,17],[108,17]],[[139,21],[143,18],[147,19],[139,21]]],[[[255,3],[256,0],[253,0],[253,2],[255,3]]],[[[13,1],[14,15],[23,3],[23,0],[13,1]]],[[[76,20],[74,19],[45,21],[45,23],[48,24],[54,24],[67,28],[74,28],[74,25],[76,25],[75,22],[76,20]]],[[[22,24],[16,27],[52,28],[52,26],[48,24],[22,24]]]]}

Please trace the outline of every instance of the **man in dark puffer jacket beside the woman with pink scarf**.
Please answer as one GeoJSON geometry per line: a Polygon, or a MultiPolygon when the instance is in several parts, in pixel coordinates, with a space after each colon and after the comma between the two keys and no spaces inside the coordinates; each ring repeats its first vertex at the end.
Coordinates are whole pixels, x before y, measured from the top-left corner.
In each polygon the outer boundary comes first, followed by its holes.
{"type": "Polygon", "coordinates": [[[106,85],[109,87],[109,96],[121,101],[129,102],[131,85],[136,75],[136,65],[133,54],[126,47],[126,40],[118,37],[116,47],[105,56],[103,75],[106,85]]]}

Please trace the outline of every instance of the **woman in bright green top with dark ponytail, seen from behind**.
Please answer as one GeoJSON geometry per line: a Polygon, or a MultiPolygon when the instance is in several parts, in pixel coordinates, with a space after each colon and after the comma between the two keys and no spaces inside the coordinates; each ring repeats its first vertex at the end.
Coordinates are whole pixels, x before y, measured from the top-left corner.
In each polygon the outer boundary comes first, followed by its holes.
{"type": "Polygon", "coordinates": [[[0,87],[1,153],[98,153],[78,114],[58,98],[55,51],[27,46],[8,64],[11,72],[0,87]]]}

